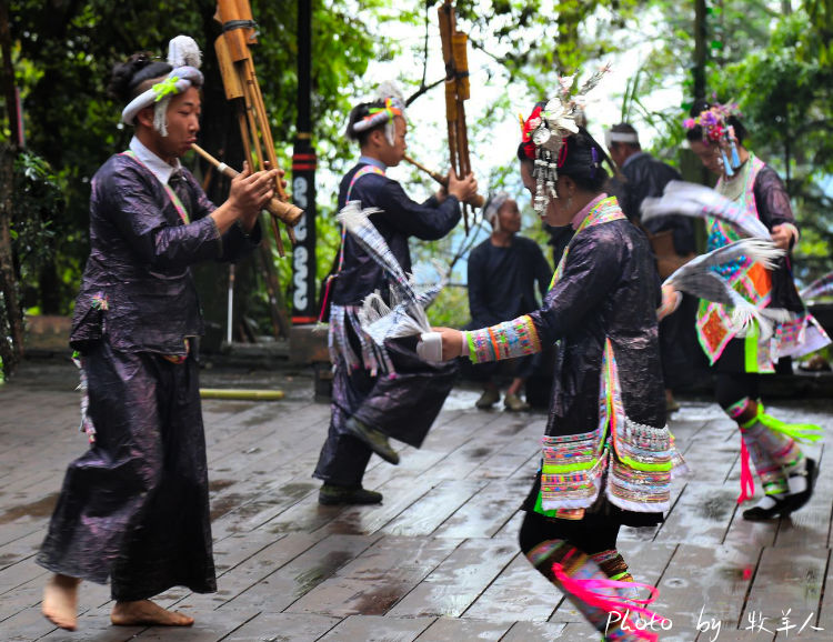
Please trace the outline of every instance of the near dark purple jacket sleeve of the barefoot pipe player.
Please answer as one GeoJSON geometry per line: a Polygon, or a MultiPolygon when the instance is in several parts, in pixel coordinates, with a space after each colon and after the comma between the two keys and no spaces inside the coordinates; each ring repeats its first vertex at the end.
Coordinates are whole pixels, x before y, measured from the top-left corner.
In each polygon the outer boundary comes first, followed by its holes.
{"type": "Polygon", "coordinates": [[[223,248],[213,219],[203,209],[194,212],[201,218],[181,224],[168,194],[153,181],[152,174],[124,161],[118,171],[99,174],[93,198],[130,249],[153,269],[183,269],[219,259],[223,248]]]}

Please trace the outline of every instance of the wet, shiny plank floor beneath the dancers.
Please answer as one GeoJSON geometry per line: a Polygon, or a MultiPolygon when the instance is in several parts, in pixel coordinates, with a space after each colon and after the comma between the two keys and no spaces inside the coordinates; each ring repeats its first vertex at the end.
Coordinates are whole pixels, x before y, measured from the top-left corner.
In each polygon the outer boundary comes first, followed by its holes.
{"type": "MultiPolygon", "coordinates": [[[[310,473],[329,409],[312,399],[311,371],[287,369],[202,372],[207,388],[285,398],[203,402],[219,591],[159,599],[194,626],[111,626],[108,588],[84,583],[79,630],[56,630],[33,559],[63,470],[86,448],[77,381],[67,361],[32,360],[0,387],[0,642],[599,640],[516,546],[543,413],[476,411],[476,392],[455,390],[421,450],[403,447],[399,467],[371,460],[365,485],[381,505],[324,508],[310,473]]],[[[830,427],[833,401],[772,411],[830,427]]],[[[810,504],[753,523],[735,504],[740,439],[720,409],[683,400],[671,428],[692,474],[663,524],[624,529],[620,545],[636,580],[660,589],[653,608],[672,622],[655,628],[660,640],[833,640],[826,444],[805,449],[822,464],[810,504]]]]}

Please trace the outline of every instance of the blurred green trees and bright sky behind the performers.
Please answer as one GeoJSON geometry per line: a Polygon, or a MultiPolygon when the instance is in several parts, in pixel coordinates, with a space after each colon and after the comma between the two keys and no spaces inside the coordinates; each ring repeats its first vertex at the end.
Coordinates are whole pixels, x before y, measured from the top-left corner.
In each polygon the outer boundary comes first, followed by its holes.
{"type": "MultiPolygon", "coordinates": [[[[424,84],[424,70],[413,61],[424,59],[421,34],[429,26],[434,28],[435,6],[423,0],[313,1],[319,279],[330,269],[339,244],[334,188],[357,156],[342,136],[347,113],[358,98],[385,80],[372,73],[381,63],[399,64],[405,86],[419,87],[420,78],[424,84]],[[403,26],[420,37],[401,38],[403,26]],[[409,62],[402,66],[401,60],[409,62]]],[[[622,66],[632,70],[624,91],[608,99],[621,104],[622,120],[650,133],[644,137],[650,140],[648,151],[679,163],[680,123],[695,98],[692,26],[697,11],[704,10],[705,28],[699,38],[705,57],[699,71],[704,74],[706,94],[740,103],[751,133],[749,147],[787,182],[803,229],[796,274],[809,280],[833,267],[830,1],[460,0],[456,6],[459,27],[470,34],[472,49],[488,60],[488,81],[502,89],[470,119],[473,158],[478,157],[474,164],[486,172],[478,179],[484,189],[508,189],[523,205],[529,200],[522,197],[514,161],[500,164],[490,158],[491,130],[496,122],[516,121],[518,114],[511,110],[518,97],[529,97],[522,101],[532,104],[550,93],[559,74],[582,71],[584,76],[602,62],[613,61],[616,73],[616,61],[629,60],[622,66]]],[[[259,44],[252,48],[258,78],[279,159],[289,168],[297,118],[297,2],[252,0],[251,7],[260,31],[259,44]]],[[[16,295],[20,310],[69,314],[89,252],[91,177],[110,154],[126,148],[130,137],[129,130],[118,124],[122,106],[106,93],[112,64],[137,50],[164,54],[174,34],[193,36],[205,52],[201,143],[215,156],[233,158],[239,146],[234,140],[237,123],[224,100],[212,47],[220,26],[213,19],[211,0],[10,0],[8,8],[10,62],[24,132],[24,146],[16,150],[13,212],[8,223],[16,295]]],[[[433,36],[429,44],[431,56],[438,57],[433,36]]],[[[440,93],[442,88],[431,91],[440,93]]],[[[9,143],[14,139],[9,118],[14,106],[9,104],[8,93],[0,100],[0,143],[9,143]]],[[[588,116],[592,120],[593,113],[588,116]]],[[[444,137],[444,128],[413,129],[410,134],[411,140],[421,141],[442,141],[444,137]]],[[[501,158],[512,159],[513,150],[501,158]]],[[[199,175],[207,175],[207,168],[197,159],[185,162],[199,175]]],[[[443,161],[433,159],[430,164],[440,169],[443,161]]],[[[424,177],[404,171],[412,193],[428,195],[434,189],[424,177]]],[[[222,181],[208,187],[212,198],[222,200],[227,188],[222,181]]],[[[545,242],[540,222],[524,209],[523,233],[545,242]]],[[[478,234],[475,238],[483,240],[488,230],[481,227],[478,234]]],[[[424,263],[429,259],[448,263],[471,244],[462,233],[454,233],[443,241],[414,243],[414,252],[424,263]]],[[[291,262],[273,254],[280,282],[289,288],[291,262]]],[[[469,319],[464,259],[458,262],[452,285],[433,308],[435,323],[461,325],[469,319]]],[[[254,334],[269,334],[261,271],[254,264],[241,268],[241,272],[247,270],[249,278],[235,295],[240,313],[251,319],[254,334]]],[[[215,288],[203,299],[222,299],[218,292],[224,289],[224,273],[214,271],[208,279],[215,288]]],[[[0,319],[0,325],[8,325],[7,317],[0,319]]]]}

